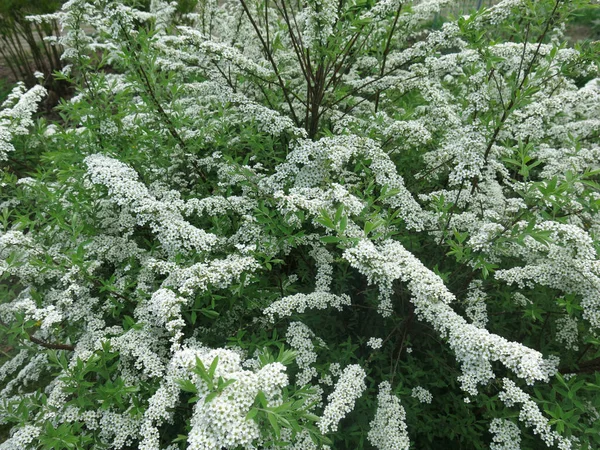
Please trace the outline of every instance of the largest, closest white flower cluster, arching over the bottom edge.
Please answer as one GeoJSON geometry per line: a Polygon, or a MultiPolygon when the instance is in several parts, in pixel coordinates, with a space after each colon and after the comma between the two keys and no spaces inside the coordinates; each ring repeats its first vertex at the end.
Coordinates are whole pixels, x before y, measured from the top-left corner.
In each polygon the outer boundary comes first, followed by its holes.
{"type": "Polygon", "coordinates": [[[256,396],[263,392],[270,406],[281,402],[281,391],[288,385],[285,367],[280,363],[267,364],[255,371],[245,370],[240,355],[228,349],[183,348],[171,359],[168,375],[161,387],[150,399],[145,413],[140,445],[144,450],[158,450],[157,425],[171,420],[169,410],[179,397],[178,380],[190,380],[198,390],[198,401],[194,406],[188,448],[194,450],[221,450],[242,446],[250,448],[260,444],[261,432],[258,424],[247,419],[256,396]],[[206,381],[192,372],[199,359],[205,368],[216,361],[213,383],[218,380],[231,381],[222,391],[210,390],[206,381]],[[208,395],[218,392],[214,398],[208,395]],[[208,401],[206,401],[208,400],[208,401]]]}

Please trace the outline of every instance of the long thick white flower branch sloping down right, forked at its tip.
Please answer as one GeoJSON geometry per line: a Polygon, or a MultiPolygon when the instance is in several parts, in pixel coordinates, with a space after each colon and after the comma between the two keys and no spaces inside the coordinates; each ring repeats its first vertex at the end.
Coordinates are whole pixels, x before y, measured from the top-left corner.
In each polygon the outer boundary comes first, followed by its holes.
{"type": "Polygon", "coordinates": [[[441,278],[399,242],[388,240],[376,246],[362,240],[356,247],[346,250],[344,257],[371,283],[391,286],[394,280],[400,279],[408,284],[415,313],[448,340],[461,363],[463,375],[459,380],[462,388],[471,395],[477,394],[478,384],[494,378],[491,361],[502,362],[530,384],[535,380],[547,380],[556,370],[539,352],[468,324],[448,305],[455,297],[441,278]]]}

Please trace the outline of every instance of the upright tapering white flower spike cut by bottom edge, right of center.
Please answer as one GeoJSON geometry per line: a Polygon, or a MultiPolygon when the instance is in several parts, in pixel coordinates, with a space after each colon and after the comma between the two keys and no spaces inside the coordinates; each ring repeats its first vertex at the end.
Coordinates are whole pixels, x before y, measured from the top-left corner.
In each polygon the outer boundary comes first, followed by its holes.
{"type": "Polygon", "coordinates": [[[382,382],[377,395],[377,412],[367,439],[379,450],[408,450],[410,441],[405,419],[406,413],[392,393],[392,386],[388,381],[382,382]]]}

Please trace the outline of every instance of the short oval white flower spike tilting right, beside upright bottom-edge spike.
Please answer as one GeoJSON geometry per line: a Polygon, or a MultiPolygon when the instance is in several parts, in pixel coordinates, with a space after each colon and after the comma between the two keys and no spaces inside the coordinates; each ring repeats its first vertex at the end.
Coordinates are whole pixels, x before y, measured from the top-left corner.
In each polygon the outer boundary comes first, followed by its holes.
{"type": "Polygon", "coordinates": [[[354,403],[367,388],[366,376],[364,369],[358,364],[344,368],[334,391],[327,397],[327,406],[318,422],[321,433],[337,431],[340,420],[354,409],[354,403]]]}

